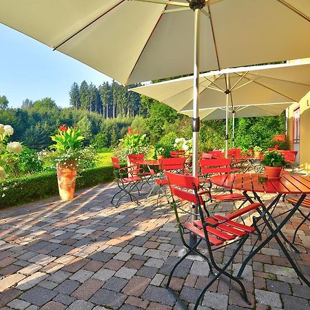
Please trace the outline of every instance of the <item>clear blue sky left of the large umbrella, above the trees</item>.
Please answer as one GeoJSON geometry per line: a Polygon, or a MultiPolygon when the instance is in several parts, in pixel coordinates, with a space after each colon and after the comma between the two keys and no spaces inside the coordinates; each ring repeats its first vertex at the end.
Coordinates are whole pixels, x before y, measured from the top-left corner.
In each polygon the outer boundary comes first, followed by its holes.
{"type": "Polygon", "coordinates": [[[0,95],[10,107],[20,107],[24,99],[51,97],[61,107],[69,105],[72,83],[100,85],[108,76],[52,51],[46,45],[0,23],[0,95]]]}

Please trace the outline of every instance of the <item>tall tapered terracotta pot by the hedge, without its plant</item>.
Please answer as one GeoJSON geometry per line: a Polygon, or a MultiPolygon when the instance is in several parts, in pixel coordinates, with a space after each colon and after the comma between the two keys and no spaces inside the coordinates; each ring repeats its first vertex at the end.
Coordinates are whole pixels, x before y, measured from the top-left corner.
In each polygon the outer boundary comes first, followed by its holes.
{"type": "Polygon", "coordinates": [[[73,199],[76,181],[76,163],[58,163],[56,169],[59,196],[61,197],[61,200],[73,199]]]}

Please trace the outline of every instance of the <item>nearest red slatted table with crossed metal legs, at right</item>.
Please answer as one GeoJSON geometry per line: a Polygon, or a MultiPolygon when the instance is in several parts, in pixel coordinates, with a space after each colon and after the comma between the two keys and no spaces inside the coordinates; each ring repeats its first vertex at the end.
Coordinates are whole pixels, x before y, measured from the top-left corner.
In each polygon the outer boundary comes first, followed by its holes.
{"type": "MultiPolygon", "coordinates": [[[[255,248],[256,243],[251,249],[249,256],[242,263],[242,266],[238,272],[238,277],[242,275],[242,272],[245,269],[245,266],[251,260],[251,258],[265,247],[267,243],[275,238],[278,242],[278,245],[282,249],[285,256],[289,260],[291,267],[296,271],[298,276],[310,287],[310,282],[304,275],[301,273],[300,269],[296,266],[295,262],[291,258],[289,252],[285,247],[285,242],[287,242],[295,251],[298,251],[296,247],[294,247],[289,240],[282,233],[281,229],[285,226],[288,220],[295,214],[298,207],[307,196],[310,194],[310,177],[308,176],[294,176],[294,175],[282,175],[279,180],[266,180],[265,182],[260,182],[259,177],[263,176],[262,174],[227,174],[220,176],[212,176],[211,183],[214,183],[220,187],[225,187],[228,189],[239,189],[243,192],[249,203],[254,203],[253,199],[247,194],[247,192],[252,192],[254,197],[262,203],[262,211],[260,211],[260,219],[264,221],[265,227],[268,227],[271,234],[263,240],[258,247],[255,248]],[[269,193],[269,194],[277,194],[276,198],[269,205],[265,205],[262,202],[262,199],[258,195],[258,193],[269,193]],[[282,219],[281,223],[276,223],[274,218],[272,217],[273,211],[276,208],[280,198],[283,195],[287,194],[296,194],[300,196],[298,203],[294,205],[291,210],[286,213],[285,218],[282,219]],[[273,228],[274,227],[274,228],[273,228]],[[279,235],[285,240],[282,242],[279,238],[279,235]]],[[[257,242],[257,241],[256,241],[257,242]]]]}

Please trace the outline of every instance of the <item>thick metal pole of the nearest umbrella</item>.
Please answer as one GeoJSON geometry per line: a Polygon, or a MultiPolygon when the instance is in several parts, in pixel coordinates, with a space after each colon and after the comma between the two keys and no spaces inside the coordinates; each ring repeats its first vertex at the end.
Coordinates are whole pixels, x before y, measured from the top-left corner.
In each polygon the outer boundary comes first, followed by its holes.
{"type": "MultiPolygon", "coordinates": [[[[200,10],[203,5],[199,5],[197,1],[189,3],[194,7],[194,92],[193,92],[193,118],[192,118],[192,132],[193,132],[193,162],[192,162],[192,175],[198,176],[198,138],[199,138],[199,72],[200,72],[200,10]]],[[[197,205],[192,205],[191,216],[192,221],[197,220],[198,213],[197,205]]],[[[191,234],[189,236],[189,245],[193,247],[197,242],[197,236],[191,234]]]]}

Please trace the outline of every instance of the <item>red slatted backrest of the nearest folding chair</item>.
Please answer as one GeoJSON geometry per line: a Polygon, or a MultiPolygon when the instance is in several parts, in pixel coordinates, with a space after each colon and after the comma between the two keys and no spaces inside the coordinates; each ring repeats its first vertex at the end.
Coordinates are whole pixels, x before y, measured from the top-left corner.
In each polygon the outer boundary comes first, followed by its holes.
{"type": "MultiPolygon", "coordinates": [[[[169,187],[173,196],[178,197],[179,200],[186,200],[189,203],[203,205],[203,198],[197,193],[199,180],[195,176],[185,176],[184,174],[174,174],[172,172],[165,172],[167,176],[169,187]],[[189,191],[189,189],[192,189],[189,191]]],[[[176,200],[174,199],[174,202],[176,200]]]]}

